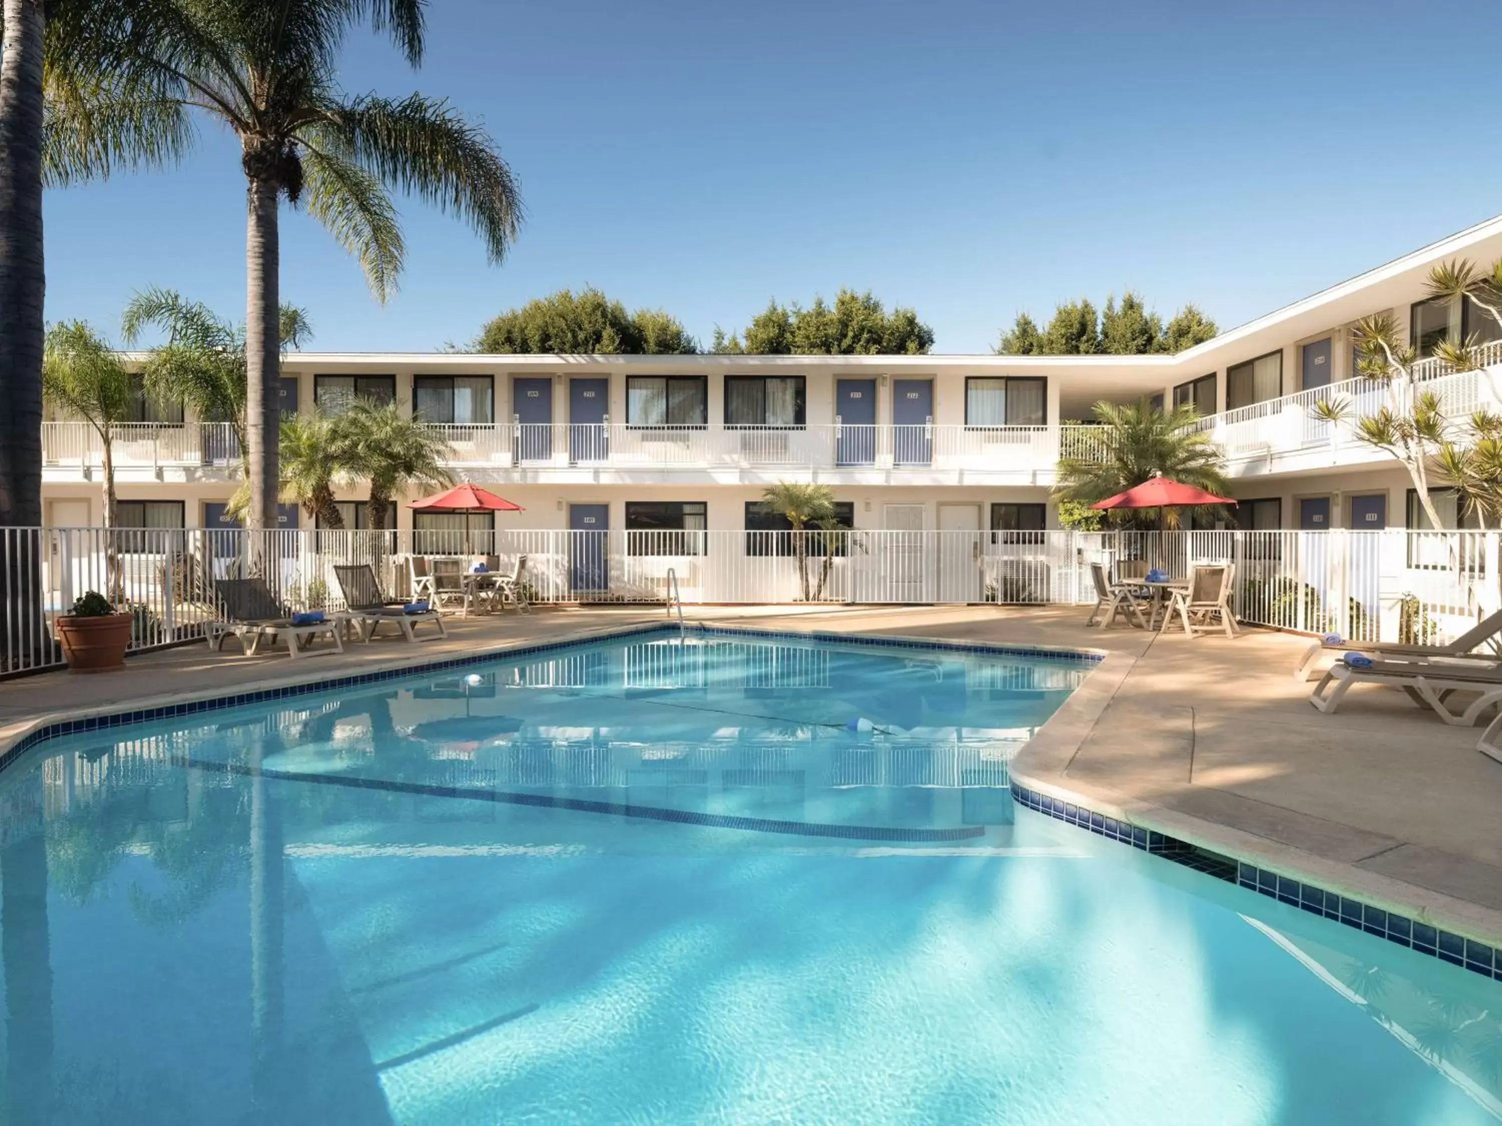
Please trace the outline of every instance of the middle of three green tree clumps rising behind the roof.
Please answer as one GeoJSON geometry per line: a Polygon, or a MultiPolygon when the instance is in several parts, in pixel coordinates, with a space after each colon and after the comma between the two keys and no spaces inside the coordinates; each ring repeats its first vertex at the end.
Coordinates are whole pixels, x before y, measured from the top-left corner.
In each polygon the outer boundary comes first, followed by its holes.
{"type": "Polygon", "coordinates": [[[934,344],[934,333],[913,309],[891,312],[870,291],[840,290],[835,303],[814,297],[807,309],[784,308],[775,300],[757,314],[745,330],[725,336],[715,330],[715,351],[753,356],[921,356],[934,344]]]}

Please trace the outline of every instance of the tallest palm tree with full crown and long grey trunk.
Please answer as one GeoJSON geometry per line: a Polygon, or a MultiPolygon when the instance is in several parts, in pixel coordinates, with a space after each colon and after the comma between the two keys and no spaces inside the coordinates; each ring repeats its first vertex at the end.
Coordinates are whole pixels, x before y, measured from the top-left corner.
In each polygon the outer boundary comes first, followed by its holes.
{"type": "MultiPolygon", "coordinates": [[[[422,60],[424,0],[129,0],[126,8],[129,18],[77,32],[87,47],[80,56],[113,63],[96,87],[120,96],[102,108],[80,108],[74,119],[81,125],[59,132],[101,132],[125,120],[171,147],[191,116],[204,114],[239,138],[246,179],[249,525],[269,527],[279,485],[281,200],[306,204],[359,258],[382,302],[395,290],[406,252],[389,189],[461,215],[491,261],[515,239],[521,200],[490,135],[446,101],[339,89],[338,51],[357,23],[386,32],[413,66],[422,60]]],[[[56,159],[72,168],[69,155],[60,146],[56,159]]],[[[87,171],[87,161],[74,164],[87,171]]]]}

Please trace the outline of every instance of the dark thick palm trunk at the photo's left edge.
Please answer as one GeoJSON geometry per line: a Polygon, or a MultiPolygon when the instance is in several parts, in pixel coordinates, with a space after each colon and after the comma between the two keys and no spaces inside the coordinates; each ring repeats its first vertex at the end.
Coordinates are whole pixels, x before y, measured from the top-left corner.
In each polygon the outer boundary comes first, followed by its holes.
{"type": "MultiPolygon", "coordinates": [[[[0,527],[29,528],[42,522],[44,0],[0,0],[0,527]]],[[[0,668],[47,656],[35,536],[5,540],[18,549],[0,558],[0,668]]]]}

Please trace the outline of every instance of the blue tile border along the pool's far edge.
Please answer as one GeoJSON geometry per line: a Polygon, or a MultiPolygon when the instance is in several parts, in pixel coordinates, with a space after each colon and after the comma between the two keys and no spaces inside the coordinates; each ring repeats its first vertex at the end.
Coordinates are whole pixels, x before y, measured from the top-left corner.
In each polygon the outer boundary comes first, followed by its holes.
{"type": "MultiPolygon", "coordinates": [[[[406,680],[409,677],[428,676],[433,673],[445,673],[454,668],[470,668],[473,665],[488,665],[496,662],[514,661],[517,658],[533,656],[536,653],[551,653],[560,649],[580,649],[584,646],[598,646],[611,641],[620,641],[625,638],[641,638],[652,634],[661,634],[664,637],[671,637],[677,634],[677,626],[667,623],[646,623],[637,626],[623,626],[620,629],[610,631],[607,634],[596,634],[592,637],[577,637],[577,638],[557,638],[553,641],[538,641],[527,646],[517,646],[515,649],[490,650],[485,653],[473,653],[470,656],[445,658],[439,661],[422,661],[410,665],[401,665],[398,668],[385,668],[372,673],[351,673],[348,676],[323,677],[317,680],[297,682],[291,685],[276,685],[273,688],[255,689],[252,692],[225,692],[218,697],[207,697],[204,700],[183,700],[174,704],[161,704],[158,707],[140,707],[125,712],[110,712],[96,716],[84,716],[83,719],[60,719],[51,724],[44,724],[24,736],[17,739],[11,746],[0,752],[0,770],[8,767],[15,761],[17,755],[24,751],[30,751],[38,743],[45,743],[50,739],[62,739],[65,736],[74,736],[89,731],[101,731],[111,727],[126,727],[128,724],[146,724],[156,719],[176,719],[177,716],[198,715],[200,712],[216,712],[227,707],[243,707],[246,704],[263,704],[272,700],[287,700],[290,697],[311,695],[315,692],[335,692],[344,688],[357,688],[360,685],[376,685],[386,683],[391,680],[406,680]]],[[[846,646],[874,646],[886,649],[930,649],[940,652],[957,652],[957,653],[973,653],[979,656],[1020,656],[1033,661],[1057,661],[1060,664],[1069,665],[1095,665],[1102,659],[1101,653],[1090,653],[1084,650],[1068,650],[1068,649],[1027,649],[1000,644],[985,644],[985,643],[966,643],[966,641],[942,641],[942,640],[922,640],[922,638],[895,638],[895,637],[871,637],[862,634],[831,634],[831,632],[786,632],[775,629],[739,629],[728,626],[692,626],[691,632],[694,635],[709,635],[709,637],[757,637],[757,638],[778,638],[786,641],[820,641],[820,643],[838,643],[846,646]]]]}

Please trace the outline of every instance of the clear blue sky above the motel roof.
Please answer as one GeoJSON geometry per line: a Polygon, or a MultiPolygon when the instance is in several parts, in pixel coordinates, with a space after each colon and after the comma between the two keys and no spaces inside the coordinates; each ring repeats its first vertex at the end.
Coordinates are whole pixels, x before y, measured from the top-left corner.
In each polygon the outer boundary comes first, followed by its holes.
{"type": "MultiPolygon", "coordinates": [[[[467,341],[586,284],[706,345],[841,285],[916,306],[948,353],[1128,287],[1226,329],[1502,212],[1496,0],[434,0],[428,26],[421,71],[362,30],[342,81],[482,117],[526,225],[491,267],[404,201],[383,308],[284,212],[317,350],[467,341]]],[[[243,317],[243,180],[213,126],[174,171],[50,192],[47,234],[50,320],[114,332],[153,284],[243,317]]]]}

